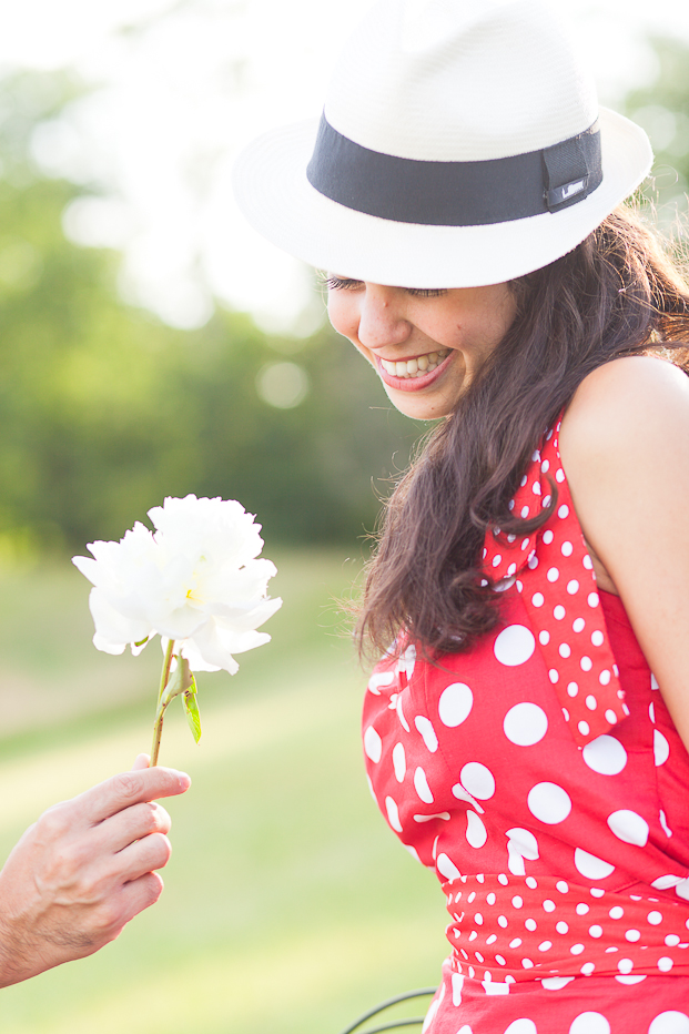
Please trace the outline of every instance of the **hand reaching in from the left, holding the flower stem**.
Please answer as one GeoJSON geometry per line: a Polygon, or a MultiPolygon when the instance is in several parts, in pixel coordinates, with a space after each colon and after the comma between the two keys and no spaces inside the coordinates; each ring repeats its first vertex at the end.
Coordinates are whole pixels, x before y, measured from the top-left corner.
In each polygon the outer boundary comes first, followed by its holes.
{"type": "Polygon", "coordinates": [[[189,789],[174,769],[113,776],[49,808],[0,872],[0,987],[91,955],[154,904],[155,872],[171,852],[170,815],[156,798],[189,789]]]}

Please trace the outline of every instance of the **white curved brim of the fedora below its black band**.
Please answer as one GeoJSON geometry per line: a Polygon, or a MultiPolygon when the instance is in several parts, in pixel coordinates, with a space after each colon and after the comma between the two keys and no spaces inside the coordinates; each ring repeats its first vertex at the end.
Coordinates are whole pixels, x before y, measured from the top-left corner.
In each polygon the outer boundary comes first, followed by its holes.
{"type": "Polygon", "coordinates": [[[602,183],[560,212],[483,226],[398,223],[347,209],[306,179],[317,130],[260,136],[233,173],[239,205],[263,236],[316,268],[397,287],[477,287],[541,268],[580,244],[648,175],[644,130],[600,109],[602,183]]]}

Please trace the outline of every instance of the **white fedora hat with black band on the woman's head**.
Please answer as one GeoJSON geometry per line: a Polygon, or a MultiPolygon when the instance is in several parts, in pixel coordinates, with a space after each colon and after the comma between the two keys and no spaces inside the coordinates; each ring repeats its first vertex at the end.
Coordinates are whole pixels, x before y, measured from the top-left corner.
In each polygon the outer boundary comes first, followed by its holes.
{"type": "Polygon", "coordinates": [[[470,287],[576,247],[648,174],[642,129],[599,109],[553,0],[381,0],[320,125],[254,141],[240,206],[341,276],[470,287]]]}

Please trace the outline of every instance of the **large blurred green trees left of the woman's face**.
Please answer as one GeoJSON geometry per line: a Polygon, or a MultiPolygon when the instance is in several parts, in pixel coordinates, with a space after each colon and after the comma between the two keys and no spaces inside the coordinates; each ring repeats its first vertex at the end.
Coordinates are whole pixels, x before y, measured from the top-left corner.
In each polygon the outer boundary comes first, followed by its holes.
{"type": "Polygon", "coordinates": [[[0,84],[0,547],[83,550],[189,491],[239,498],[271,540],[371,529],[372,478],[404,468],[423,426],[330,328],[288,341],[219,307],[179,331],[125,305],[118,254],[64,236],[84,185],[31,162],[36,126],[74,90],[60,77],[0,84]],[[310,385],[291,408],[259,395],[280,395],[281,377],[287,404],[310,385]]]}

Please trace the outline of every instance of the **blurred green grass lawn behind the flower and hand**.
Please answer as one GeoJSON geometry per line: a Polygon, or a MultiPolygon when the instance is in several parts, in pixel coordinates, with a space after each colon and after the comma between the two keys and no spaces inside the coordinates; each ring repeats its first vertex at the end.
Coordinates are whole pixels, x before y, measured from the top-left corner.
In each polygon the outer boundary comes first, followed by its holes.
{"type": "MultiPolygon", "coordinates": [[[[337,1034],[437,982],[439,888],[363,771],[365,675],[332,602],[357,564],[266,553],[273,641],[233,678],[201,676],[197,747],[180,707],[166,719],[161,762],[193,787],[168,805],[163,898],[97,955],[0,992],[3,1034],[337,1034]]],[[[67,564],[0,570],[2,858],[49,804],[149,749],[161,651],[99,653],[88,588],[67,564]]]]}

